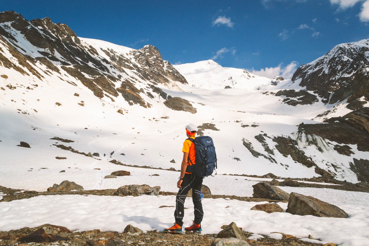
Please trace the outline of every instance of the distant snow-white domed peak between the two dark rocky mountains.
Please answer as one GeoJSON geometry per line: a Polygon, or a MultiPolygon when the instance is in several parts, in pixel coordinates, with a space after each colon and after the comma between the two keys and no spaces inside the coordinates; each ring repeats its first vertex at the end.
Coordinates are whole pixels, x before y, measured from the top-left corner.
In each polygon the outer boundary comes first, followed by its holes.
{"type": "Polygon", "coordinates": [[[271,80],[249,73],[246,70],[222,67],[213,60],[186,63],[174,66],[187,80],[190,86],[219,90],[238,88],[260,90],[271,86],[271,80]]]}

